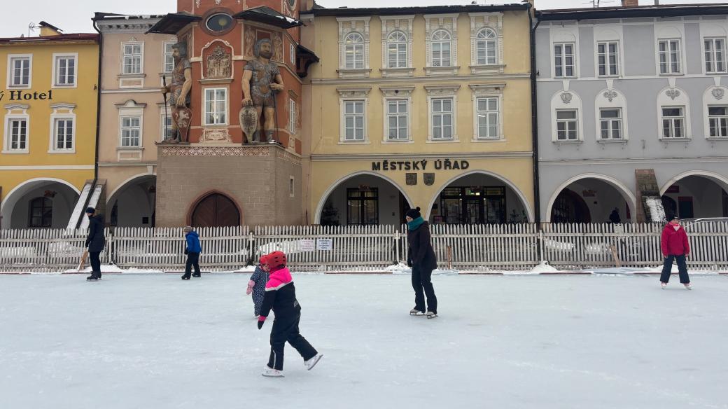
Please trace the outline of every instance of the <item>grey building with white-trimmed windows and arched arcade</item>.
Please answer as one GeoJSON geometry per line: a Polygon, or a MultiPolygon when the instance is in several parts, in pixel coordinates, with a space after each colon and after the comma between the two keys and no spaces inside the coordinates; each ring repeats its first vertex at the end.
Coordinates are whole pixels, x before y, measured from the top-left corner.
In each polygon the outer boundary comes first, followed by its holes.
{"type": "Polygon", "coordinates": [[[537,12],[542,221],[602,223],[615,208],[645,221],[650,190],[668,217],[728,216],[727,15],[728,4],[537,12]]]}

